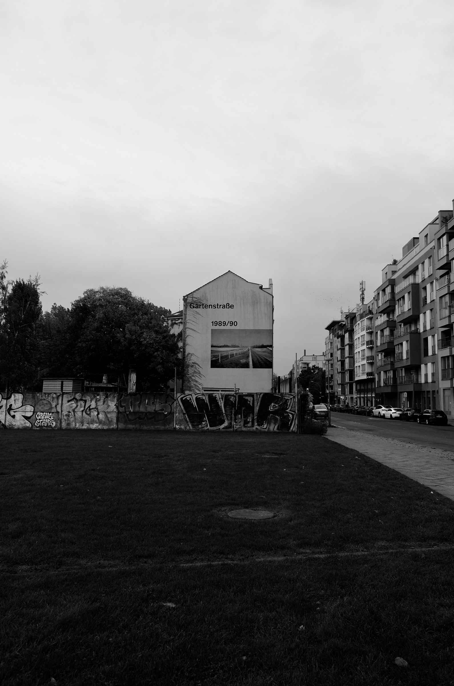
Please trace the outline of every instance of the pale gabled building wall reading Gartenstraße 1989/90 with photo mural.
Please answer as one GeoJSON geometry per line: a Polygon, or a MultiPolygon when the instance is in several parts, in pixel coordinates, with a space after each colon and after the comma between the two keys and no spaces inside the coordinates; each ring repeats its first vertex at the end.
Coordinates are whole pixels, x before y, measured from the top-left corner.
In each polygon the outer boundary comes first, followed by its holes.
{"type": "Polygon", "coordinates": [[[273,309],[271,279],[230,271],[184,296],[183,390],[272,392],[273,309]]]}

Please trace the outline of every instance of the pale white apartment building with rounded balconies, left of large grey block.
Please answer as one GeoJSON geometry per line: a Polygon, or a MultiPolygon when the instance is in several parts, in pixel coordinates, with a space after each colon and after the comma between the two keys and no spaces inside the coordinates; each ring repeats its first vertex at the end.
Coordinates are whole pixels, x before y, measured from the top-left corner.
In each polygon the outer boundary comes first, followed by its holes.
{"type": "Polygon", "coordinates": [[[370,407],[375,402],[374,300],[359,305],[353,331],[355,346],[355,405],[370,407]]]}

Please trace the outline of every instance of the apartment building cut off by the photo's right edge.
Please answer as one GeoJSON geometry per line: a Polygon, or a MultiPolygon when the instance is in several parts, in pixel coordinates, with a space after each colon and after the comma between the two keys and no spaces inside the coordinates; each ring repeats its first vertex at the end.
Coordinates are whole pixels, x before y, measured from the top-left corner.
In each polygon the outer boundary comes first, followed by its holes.
{"type": "MultiPolygon", "coordinates": [[[[454,200],[453,200],[454,210],[454,200]]],[[[453,342],[454,342],[454,217],[445,210],[435,217],[435,294],[437,311],[438,379],[440,408],[454,416],[453,403],[453,342]]]]}

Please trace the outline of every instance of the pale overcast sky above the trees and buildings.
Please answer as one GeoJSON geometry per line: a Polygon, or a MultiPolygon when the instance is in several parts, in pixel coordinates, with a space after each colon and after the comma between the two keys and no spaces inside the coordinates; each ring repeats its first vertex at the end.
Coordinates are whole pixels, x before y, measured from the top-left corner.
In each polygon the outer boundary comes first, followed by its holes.
{"type": "Polygon", "coordinates": [[[454,197],[452,0],[3,0],[0,261],[43,307],[274,282],[274,370],[454,197]]]}

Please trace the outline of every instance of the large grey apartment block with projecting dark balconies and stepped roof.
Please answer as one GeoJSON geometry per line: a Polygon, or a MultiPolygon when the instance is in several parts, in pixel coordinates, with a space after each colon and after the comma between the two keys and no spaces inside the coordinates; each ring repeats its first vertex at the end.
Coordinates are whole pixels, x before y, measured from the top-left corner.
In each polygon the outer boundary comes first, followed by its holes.
{"type": "Polygon", "coordinates": [[[382,270],[374,293],[376,401],[396,407],[440,407],[435,303],[438,217],[382,270]]]}

